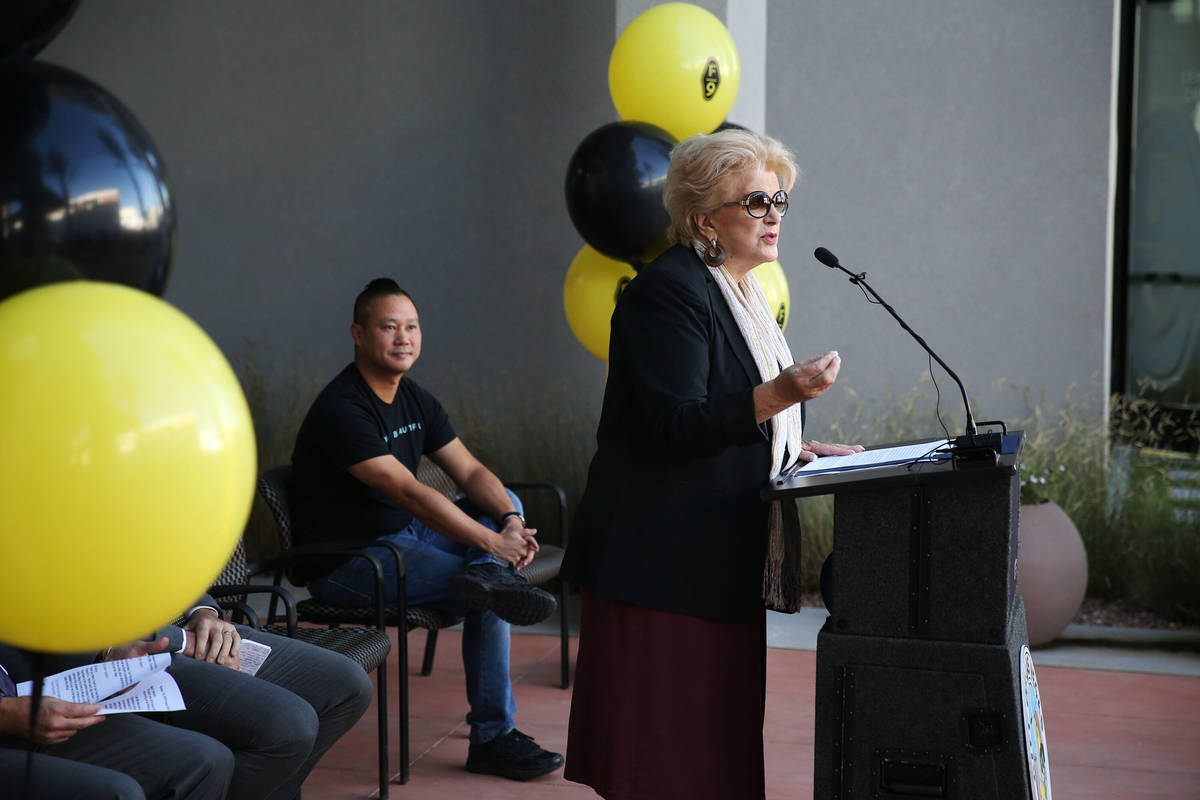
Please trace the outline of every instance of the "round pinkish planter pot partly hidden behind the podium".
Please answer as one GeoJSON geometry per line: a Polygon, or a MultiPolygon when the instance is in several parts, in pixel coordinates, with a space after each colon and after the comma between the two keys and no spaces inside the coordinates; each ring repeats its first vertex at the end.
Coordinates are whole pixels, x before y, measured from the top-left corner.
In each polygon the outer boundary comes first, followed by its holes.
{"type": "Polygon", "coordinates": [[[1031,645],[1058,636],[1084,602],[1087,552],[1075,523],[1055,503],[1021,506],[1016,590],[1025,599],[1031,645]]]}

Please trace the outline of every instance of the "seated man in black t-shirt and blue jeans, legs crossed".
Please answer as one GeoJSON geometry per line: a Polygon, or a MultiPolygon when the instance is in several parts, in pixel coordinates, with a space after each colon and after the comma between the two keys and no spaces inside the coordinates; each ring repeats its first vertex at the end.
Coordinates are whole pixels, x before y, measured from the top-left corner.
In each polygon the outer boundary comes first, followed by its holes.
{"type": "MultiPolygon", "coordinates": [[[[526,528],[516,495],[458,440],[438,401],[406,377],[421,354],[408,293],[388,278],[368,283],[354,301],[350,336],[354,362],[322,390],[296,435],[296,542],[395,542],[404,553],[408,602],[466,616],[467,769],[515,780],[546,775],[563,757],[515,728],[509,678],[509,622],[532,625],[557,606],[516,572],[538,551],[536,531],[526,528]],[[422,455],[463,489],[463,504],[416,480],[422,455]]],[[[395,559],[379,555],[395,594],[395,559]]],[[[374,573],[362,559],[328,560],[307,577],[316,578],[308,590],[319,601],[374,602],[374,573]]]]}

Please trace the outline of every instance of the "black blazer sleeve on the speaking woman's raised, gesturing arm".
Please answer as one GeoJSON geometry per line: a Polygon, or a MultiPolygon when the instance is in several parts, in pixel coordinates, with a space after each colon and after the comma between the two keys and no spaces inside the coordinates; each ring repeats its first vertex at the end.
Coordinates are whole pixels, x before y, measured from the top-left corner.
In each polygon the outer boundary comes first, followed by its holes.
{"type": "Polygon", "coordinates": [[[660,276],[630,284],[620,296],[612,324],[613,355],[629,372],[658,447],[709,456],[763,437],[755,421],[754,386],[710,389],[730,383],[710,374],[715,327],[702,283],[660,276]]]}

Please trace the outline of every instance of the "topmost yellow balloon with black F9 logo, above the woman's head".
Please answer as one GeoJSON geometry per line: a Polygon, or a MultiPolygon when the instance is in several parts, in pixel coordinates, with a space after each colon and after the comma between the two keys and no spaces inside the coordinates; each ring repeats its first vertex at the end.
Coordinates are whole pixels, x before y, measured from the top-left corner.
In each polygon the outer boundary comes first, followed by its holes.
{"type": "Polygon", "coordinates": [[[638,14],[608,59],[608,92],[620,118],[652,122],[679,140],[724,122],[740,82],[730,31],[690,2],[638,14]]]}

